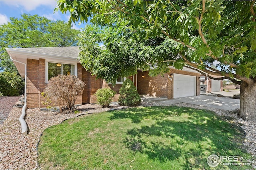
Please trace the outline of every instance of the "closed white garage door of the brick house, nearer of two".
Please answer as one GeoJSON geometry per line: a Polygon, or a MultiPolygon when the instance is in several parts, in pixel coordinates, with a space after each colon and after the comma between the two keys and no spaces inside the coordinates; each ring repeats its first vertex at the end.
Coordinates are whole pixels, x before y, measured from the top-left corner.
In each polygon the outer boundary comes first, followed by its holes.
{"type": "Polygon", "coordinates": [[[173,98],[196,96],[196,76],[173,75],[173,98]]]}

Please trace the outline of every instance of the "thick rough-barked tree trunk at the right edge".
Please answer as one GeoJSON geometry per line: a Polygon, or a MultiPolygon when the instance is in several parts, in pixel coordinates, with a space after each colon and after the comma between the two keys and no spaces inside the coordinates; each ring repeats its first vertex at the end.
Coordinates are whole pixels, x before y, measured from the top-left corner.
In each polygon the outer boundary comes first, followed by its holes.
{"type": "Polygon", "coordinates": [[[240,85],[240,117],[256,120],[256,82],[240,85]]]}

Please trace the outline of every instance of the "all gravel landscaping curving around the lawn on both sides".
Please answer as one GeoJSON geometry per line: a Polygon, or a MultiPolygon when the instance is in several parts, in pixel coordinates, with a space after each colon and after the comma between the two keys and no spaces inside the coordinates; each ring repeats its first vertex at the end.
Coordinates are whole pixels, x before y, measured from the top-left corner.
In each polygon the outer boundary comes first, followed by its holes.
{"type": "MultiPolygon", "coordinates": [[[[123,108],[117,106],[101,108],[96,104],[86,104],[78,107],[80,113],[77,114],[61,114],[56,112],[44,112],[40,111],[40,109],[28,109],[25,120],[28,124],[29,133],[28,135],[22,135],[20,122],[18,120],[22,108],[12,108],[15,103],[19,104],[19,102],[17,102],[18,98],[19,97],[0,98],[0,169],[38,168],[36,146],[40,135],[47,127],[79,115],[123,108]]],[[[232,111],[184,103],[175,105],[212,110],[216,112],[217,115],[226,117],[228,121],[240,125],[245,132],[243,144],[247,146],[250,154],[256,155],[255,121],[244,121],[238,118],[237,114],[232,111]],[[232,119],[228,117],[232,117],[232,119]]],[[[166,104],[142,102],[142,106],[166,106],[166,104]]]]}

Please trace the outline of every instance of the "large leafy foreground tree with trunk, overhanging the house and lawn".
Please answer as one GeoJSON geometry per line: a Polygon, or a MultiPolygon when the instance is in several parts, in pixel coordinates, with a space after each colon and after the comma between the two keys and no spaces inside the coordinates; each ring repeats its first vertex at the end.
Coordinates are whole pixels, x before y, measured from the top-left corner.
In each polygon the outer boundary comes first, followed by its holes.
{"type": "MultiPolygon", "coordinates": [[[[140,57],[137,61],[130,61],[133,64],[128,64],[128,67],[120,63],[120,60],[99,63],[100,59],[88,53],[88,45],[84,45],[80,57],[82,63],[85,61],[84,65],[91,68],[90,70],[97,70],[93,69],[95,63],[101,66],[101,70],[106,64],[108,67],[105,73],[101,74],[104,76],[111,66],[124,73],[130,66],[136,69],[143,64],[158,63],[160,71],[166,71],[167,66],[173,65],[178,69],[182,66],[189,67],[207,76],[220,75],[222,78],[218,80],[229,79],[241,85],[240,116],[256,119],[255,0],[60,0],[58,8],[62,12],[70,11],[70,21],[88,21],[88,18],[91,18],[90,21],[95,25],[116,29],[116,37],[121,37],[124,33],[123,35],[132,35],[133,40],[139,41],[140,44],[146,41],[140,46],[141,49],[136,45],[131,46],[130,50],[138,48],[143,51],[145,59],[140,57]],[[83,58],[85,56],[92,56],[91,61],[95,62],[86,61],[83,58]],[[213,63],[217,63],[216,66],[220,69],[211,67],[213,63]]],[[[97,39],[97,36],[92,38],[97,39]]],[[[115,41],[116,43],[106,44],[104,50],[111,51],[111,44],[118,44],[116,47],[124,44],[119,40],[115,41]]],[[[116,51],[118,50],[116,48],[116,51]]],[[[98,51],[102,54],[102,51],[98,51]]],[[[126,52],[130,53],[124,51],[126,52]]],[[[122,51],[116,52],[116,55],[120,53],[122,51]]],[[[141,52],[138,54],[142,55],[141,52]]],[[[129,55],[122,57],[124,62],[130,59],[129,55]]],[[[116,58],[118,56],[115,56],[116,58]]]]}

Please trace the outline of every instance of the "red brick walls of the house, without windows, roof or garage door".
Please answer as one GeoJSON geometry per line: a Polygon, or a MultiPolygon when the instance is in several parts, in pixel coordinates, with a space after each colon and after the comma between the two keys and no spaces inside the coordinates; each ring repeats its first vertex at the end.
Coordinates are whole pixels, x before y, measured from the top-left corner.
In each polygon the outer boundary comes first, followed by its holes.
{"type": "MultiPolygon", "coordinates": [[[[168,99],[173,98],[173,81],[168,78],[168,74],[186,74],[191,76],[199,77],[200,74],[187,72],[182,70],[170,69],[169,73],[164,74],[164,76],[158,75],[156,77],[148,76],[148,71],[142,72],[138,71],[137,76],[128,77],[130,80],[134,81],[134,85],[138,88],[139,94],[146,94],[148,96],[164,97],[168,99]],[[144,75],[144,78],[142,77],[144,75]],[[136,77],[138,82],[136,81],[136,77]]],[[[114,102],[117,102],[119,97],[119,89],[122,84],[108,84],[103,79],[97,79],[95,76],[91,76],[90,72],[82,68],[80,63],[77,63],[77,76],[84,83],[84,91],[82,96],[78,96],[76,104],[86,104],[86,103],[96,103],[96,97],[94,93],[99,88],[111,88],[116,92],[114,97],[114,102]]],[[[196,95],[200,95],[200,81],[197,78],[197,90],[196,95]]],[[[46,88],[46,61],[45,59],[27,59],[27,107],[46,107],[42,104],[45,100],[41,95],[41,92],[46,88]]]]}

